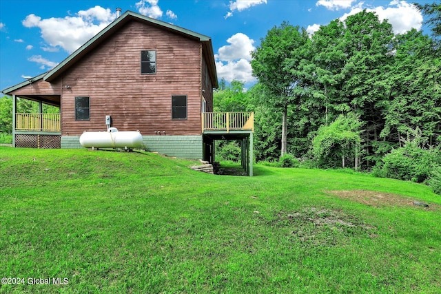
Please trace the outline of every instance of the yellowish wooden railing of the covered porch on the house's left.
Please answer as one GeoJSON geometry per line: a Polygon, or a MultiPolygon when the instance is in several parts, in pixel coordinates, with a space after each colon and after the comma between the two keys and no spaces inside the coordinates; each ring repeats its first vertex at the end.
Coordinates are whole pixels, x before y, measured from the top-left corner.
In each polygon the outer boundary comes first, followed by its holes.
{"type": "Polygon", "coordinates": [[[15,114],[17,131],[61,132],[60,114],[15,114]]]}

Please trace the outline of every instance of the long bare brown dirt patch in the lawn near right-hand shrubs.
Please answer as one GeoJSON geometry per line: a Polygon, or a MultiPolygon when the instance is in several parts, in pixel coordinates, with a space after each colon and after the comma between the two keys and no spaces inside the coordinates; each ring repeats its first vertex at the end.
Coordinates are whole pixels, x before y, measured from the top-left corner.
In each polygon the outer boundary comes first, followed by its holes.
{"type": "Polygon", "coordinates": [[[373,207],[420,207],[427,210],[438,209],[437,204],[422,202],[416,198],[411,198],[409,196],[401,196],[392,193],[383,193],[378,191],[367,191],[367,190],[353,190],[353,191],[325,191],[327,194],[333,196],[338,196],[342,199],[348,199],[356,201],[362,204],[366,204],[373,207]],[[419,204],[415,204],[415,203],[419,204]],[[422,203],[426,203],[429,207],[425,207],[422,203]]]}

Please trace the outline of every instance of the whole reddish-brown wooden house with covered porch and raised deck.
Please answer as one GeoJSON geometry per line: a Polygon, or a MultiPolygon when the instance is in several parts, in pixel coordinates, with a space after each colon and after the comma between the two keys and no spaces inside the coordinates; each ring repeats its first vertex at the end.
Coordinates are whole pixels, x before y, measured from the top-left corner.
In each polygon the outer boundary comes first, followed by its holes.
{"type": "MultiPolygon", "coordinates": [[[[151,151],[214,160],[214,140],[243,143],[252,166],[254,118],[213,113],[218,87],[212,41],[170,23],[127,11],[49,72],[3,90],[13,98],[13,145],[82,148],[87,131],[139,130],[151,151]],[[16,113],[17,98],[60,108],[16,113]]],[[[251,167],[252,174],[252,167],[251,167]]]]}

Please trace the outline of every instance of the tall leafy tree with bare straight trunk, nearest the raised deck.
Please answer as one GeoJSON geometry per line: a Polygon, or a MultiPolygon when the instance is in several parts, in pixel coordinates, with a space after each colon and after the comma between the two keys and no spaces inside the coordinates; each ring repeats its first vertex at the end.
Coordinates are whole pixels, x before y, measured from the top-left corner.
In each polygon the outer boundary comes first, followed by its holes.
{"type": "Polygon", "coordinates": [[[283,22],[261,39],[260,46],[252,52],[253,74],[268,92],[263,101],[267,107],[282,112],[281,155],[287,152],[287,112],[289,105],[300,105],[305,93],[301,69],[305,59],[309,36],[305,29],[283,22]]]}

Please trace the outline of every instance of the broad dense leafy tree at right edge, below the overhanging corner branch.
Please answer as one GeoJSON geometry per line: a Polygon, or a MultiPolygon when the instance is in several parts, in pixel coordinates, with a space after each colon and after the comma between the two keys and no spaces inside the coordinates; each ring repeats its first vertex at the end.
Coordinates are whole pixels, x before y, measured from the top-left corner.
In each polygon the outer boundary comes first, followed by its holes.
{"type": "Polygon", "coordinates": [[[394,63],[387,83],[389,99],[382,102],[384,129],[380,136],[398,142],[415,129],[433,146],[441,125],[440,60],[433,57],[433,41],[413,29],[396,36],[394,63]]]}

